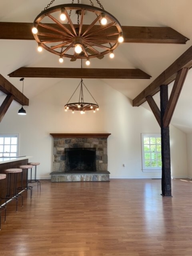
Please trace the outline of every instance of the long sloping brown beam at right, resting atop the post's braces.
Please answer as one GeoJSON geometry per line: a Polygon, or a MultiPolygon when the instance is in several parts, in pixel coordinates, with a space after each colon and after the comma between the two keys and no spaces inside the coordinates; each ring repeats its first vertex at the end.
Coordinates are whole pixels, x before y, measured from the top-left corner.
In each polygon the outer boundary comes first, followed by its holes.
{"type": "Polygon", "coordinates": [[[133,100],[133,106],[140,106],[146,101],[148,95],[153,96],[160,91],[161,85],[168,85],[176,79],[177,72],[182,68],[192,67],[192,46],[162,72],[149,86],[147,86],[133,100]]]}

